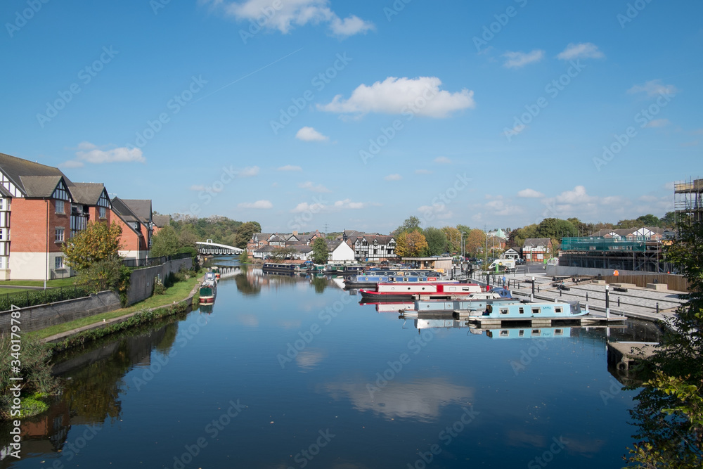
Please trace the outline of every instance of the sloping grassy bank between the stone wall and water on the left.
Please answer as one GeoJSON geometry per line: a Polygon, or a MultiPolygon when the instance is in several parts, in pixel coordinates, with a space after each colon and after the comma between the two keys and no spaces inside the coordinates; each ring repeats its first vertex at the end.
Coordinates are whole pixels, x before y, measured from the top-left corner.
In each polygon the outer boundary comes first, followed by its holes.
{"type": "Polygon", "coordinates": [[[202,278],[203,276],[198,276],[175,283],[164,295],[153,295],[131,307],[51,326],[37,330],[33,335],[42,342],[52,344],[55,350],[62,350],[186,311],[198,295],[202,278]]]}

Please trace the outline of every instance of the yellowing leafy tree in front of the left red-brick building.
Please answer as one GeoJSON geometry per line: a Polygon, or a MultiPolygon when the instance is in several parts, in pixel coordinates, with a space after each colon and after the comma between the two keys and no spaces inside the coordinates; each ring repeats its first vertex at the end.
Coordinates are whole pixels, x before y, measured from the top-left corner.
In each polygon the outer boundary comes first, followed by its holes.
{"type": "Polygon", "coordinates": [[[105,259],[117,259],[122,228],[116,223],[90,221],[86,229],[61,245],[67,266],[84,271],[105,259]]]}

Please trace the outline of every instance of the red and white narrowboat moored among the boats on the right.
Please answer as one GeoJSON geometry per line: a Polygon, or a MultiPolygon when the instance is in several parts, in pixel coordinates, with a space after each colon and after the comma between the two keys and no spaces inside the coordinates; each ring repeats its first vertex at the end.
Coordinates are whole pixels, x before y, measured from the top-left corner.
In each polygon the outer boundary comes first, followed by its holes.
{"type": "Polygon", "coordinates": [[[451,298],[481,293],[481,287],[476,283],[426,283],[426,282],[391,282],[379,283],[374,290],[359,290],[361,297],[376,301],[398,301],[432,298],[451,298]]]}

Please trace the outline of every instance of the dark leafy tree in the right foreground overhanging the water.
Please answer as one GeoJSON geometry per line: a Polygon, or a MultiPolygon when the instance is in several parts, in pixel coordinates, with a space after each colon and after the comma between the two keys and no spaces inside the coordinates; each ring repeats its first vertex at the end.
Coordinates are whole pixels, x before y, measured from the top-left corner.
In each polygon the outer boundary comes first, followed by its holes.
{"type": "Polygon", "coordinates": [[[629,461],[648,468],[700,468],[703,463],[703,224],[680,226],[664,248],[665,260],[688,281],[686,300],[673,316],[644,373],[654,378],[631,411],[639,440],[629,461]]]}

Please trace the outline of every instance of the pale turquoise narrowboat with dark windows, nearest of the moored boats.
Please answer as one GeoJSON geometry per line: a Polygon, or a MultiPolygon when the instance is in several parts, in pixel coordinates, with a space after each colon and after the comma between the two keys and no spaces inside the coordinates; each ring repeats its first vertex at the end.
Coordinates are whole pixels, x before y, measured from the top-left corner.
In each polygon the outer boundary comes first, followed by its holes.
{"type": "Polygon", "coordinates": [[[525,319],[570,319],[586,316],[588,309],[581,309],[580,302],[573,303],[522,303],[486,304],[480,309],[468,311],[468,321],[497,319],[500,321],[522,321],[525,319]]]}

